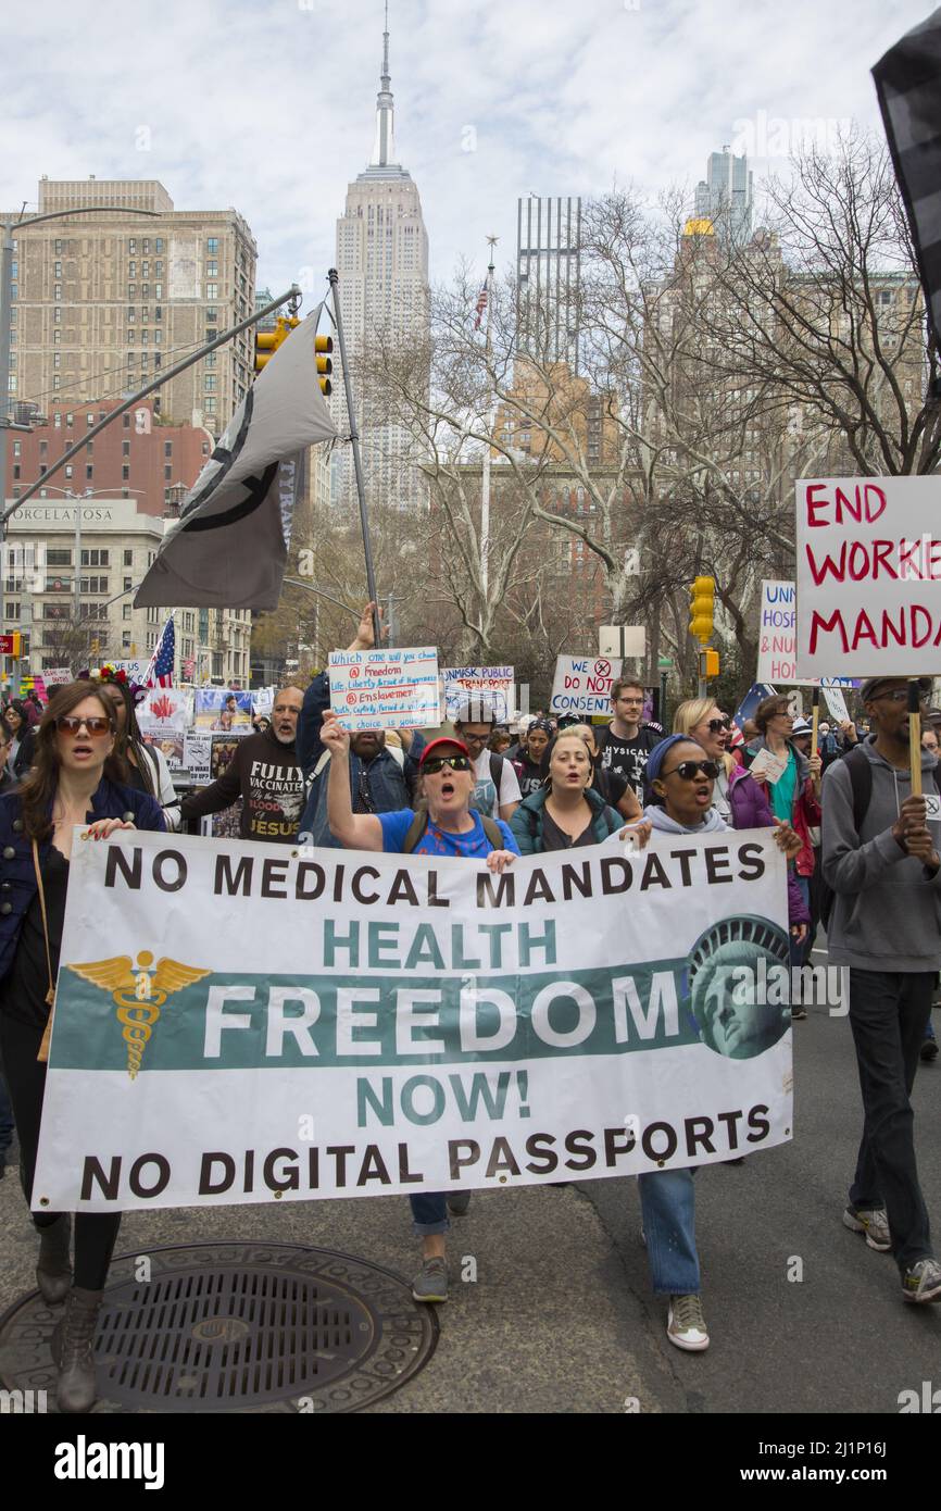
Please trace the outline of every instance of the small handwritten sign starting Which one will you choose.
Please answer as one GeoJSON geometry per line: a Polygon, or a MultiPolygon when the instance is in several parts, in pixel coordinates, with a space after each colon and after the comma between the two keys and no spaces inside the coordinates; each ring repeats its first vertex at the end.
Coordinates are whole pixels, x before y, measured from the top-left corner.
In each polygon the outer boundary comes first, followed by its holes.
{"type": "Polygon", "coordinates": [[[344,730],[420,730],[441,722],[438,651],[331,651],[329,701],[344,730]]]}

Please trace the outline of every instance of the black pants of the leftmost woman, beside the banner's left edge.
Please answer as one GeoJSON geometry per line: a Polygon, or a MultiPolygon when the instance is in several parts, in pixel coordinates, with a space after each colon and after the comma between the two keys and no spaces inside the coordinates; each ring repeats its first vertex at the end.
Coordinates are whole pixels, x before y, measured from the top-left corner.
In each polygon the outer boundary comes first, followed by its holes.
{"type": "MultiPolygon", "coordinates": [[[[39,1123],[42,1120],[42,1094],[45,1091],[45,1065],[36,1055],[42,1041],[42,1029],[32,1023],[20,1023],[8,1012],[0,1012],[0,1046],[3,1068],[9,1086],[17,1133],[20,1136],[20,1176],[27,1203],[33,1192],[36,1153],[39,1148],[39,1123]]],[[[50,1227],[57,1212],[36,1212],[38,1228],[50,1227]]],[[[76,1216],[76,1284],[86,1290],[104,1290],[107,1266],[112,1260],[121,1213],[80,1212],[76,1216]]]]}

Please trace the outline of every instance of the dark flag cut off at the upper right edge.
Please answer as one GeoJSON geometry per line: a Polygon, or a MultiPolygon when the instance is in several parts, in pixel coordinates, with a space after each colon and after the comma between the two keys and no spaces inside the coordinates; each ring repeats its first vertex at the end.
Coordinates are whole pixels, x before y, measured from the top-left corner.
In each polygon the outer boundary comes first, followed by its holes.
{"type": "Polygon", "coordinates": [[[890,47],[873,79],[941,346],[941,9],[890,47]]]}

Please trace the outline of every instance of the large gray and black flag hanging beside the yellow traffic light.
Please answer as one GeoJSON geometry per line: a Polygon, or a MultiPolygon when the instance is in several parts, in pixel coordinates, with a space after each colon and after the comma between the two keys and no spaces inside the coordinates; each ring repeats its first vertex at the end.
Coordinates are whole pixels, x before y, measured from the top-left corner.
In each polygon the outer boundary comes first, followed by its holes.
{"type": "Polygon", "coordinates": [[[137,607],[278,606],[305,450],[337,435],[317,379],[320,308],[236,409],[137,589],[137,607]]]}

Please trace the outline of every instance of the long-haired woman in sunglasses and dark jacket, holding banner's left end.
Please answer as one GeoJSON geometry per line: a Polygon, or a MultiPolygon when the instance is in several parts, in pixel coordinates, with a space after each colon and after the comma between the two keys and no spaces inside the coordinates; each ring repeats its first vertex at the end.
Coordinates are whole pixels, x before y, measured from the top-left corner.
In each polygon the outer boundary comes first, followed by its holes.
{"type": "MultiPolygon", "coordinates": [[[[83,839],[116,830],[163,830],[157,802],[121,783],[115,765],[115,715],[98,688],[57,688],[36,731],[36,760],[23,784],[0,795],[0,1049],[32,1197],[42,1092],[45,1031],[59,970],[74,828],[83,839]],[[39,1058],[42,1056],[42,1058],[39,1058]]],[[[95,1399],[94,1336],[119,1215],[79,1213],[76,1271],[69,1265],[71,1218],[38,1213],[36,1281],[48,1306],[66,1301],[53,1337],[60,1411],[88,1411],[95,1399]]]]}

